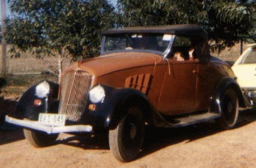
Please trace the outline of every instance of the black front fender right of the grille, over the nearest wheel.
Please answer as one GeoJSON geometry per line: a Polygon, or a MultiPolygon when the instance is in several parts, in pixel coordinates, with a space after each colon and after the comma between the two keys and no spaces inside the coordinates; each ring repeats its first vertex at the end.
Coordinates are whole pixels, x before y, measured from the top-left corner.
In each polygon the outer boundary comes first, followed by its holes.
{"type": "MultiPolygon", "coordinates": [[[[123,116],[127,114],[127,108],[136,105],[146,118],[151,118],[151,104],[141,91],[132,88],[115,89],[101,85],[105,89],[103,102],[96,103],[96,110],[87,111],[84,114],[84,122],[96,127],[115,128],[123,116]]],[[[90,102],[88,104],[93,104],[90,102]]]]}

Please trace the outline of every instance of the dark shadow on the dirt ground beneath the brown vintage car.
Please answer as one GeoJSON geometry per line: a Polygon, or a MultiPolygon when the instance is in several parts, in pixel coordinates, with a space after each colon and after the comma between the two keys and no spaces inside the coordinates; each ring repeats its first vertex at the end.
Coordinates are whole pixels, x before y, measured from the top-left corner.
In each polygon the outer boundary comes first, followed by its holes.
{"type": "MultiPolygon", "coordinates": [[[[254,121],[256,121],[256,112],[249,110],[241,111],[239,113],[239,122],[236,128],[243,127],[254,121]]],[[[182,128],[146,128],[144,145],[139,158],[179,142],[186,141],[186,143],[190,143],[194,140],[214,135],[222,131],[223,130],[219,129],[214,121],[182,128]]],[[[58,140],[57,143],[83,149],[109,149],[107,134],[100,138],[74,135],[67,139],[58,140]]]]}

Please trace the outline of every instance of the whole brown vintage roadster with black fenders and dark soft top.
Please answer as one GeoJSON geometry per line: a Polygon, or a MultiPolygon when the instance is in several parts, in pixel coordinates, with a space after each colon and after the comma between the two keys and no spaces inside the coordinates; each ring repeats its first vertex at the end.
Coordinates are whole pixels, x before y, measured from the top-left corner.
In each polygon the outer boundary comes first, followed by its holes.
{"type": "Polygon", "coordinates": [[[250,107],[230,66],[210,56],[200,26],[129,27],[102,35],[101,56],[65,69],[60,85],[32,86],[6,116],[24,127],[32,145],[51,145],[61,132],[106,129],[115,158],[131,161],[145,125],[174,128],[216,119],[229,129],[239,106],[250,107]]]}

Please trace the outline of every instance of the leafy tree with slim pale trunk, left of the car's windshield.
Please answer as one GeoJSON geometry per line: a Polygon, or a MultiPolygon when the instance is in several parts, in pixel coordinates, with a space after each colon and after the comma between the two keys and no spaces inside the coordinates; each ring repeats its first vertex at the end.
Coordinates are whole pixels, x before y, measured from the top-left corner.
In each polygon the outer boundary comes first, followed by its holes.
{"type": "Polygon", "coordinates": [[[65,57],[98,56],[100,31],[118,25],[115,8],[107,0],[10,0],[9,5],[17,13],[7,20],[4,34],[10,52],[58,56],[59,77],[65,57]]]}

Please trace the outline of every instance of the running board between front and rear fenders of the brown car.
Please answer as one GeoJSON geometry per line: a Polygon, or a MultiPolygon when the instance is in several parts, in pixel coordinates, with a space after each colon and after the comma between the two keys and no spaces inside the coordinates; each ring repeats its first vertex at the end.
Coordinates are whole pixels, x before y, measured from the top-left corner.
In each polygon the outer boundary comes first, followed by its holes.
{"type": "Polygon", "coordinates": [[[168,122],[166,120],[165,121],[168,123],[168,127],[183,127],[187,125],[193,125],[199,122],[209,121],[212,119],[216,119],[218,117],[220,117],[220,114],[205,112],[202,114],[188,115],[188,116],[182,116],[180,118],[175,118],[175,119],[172,119],[171,122],[168,122]]]}

